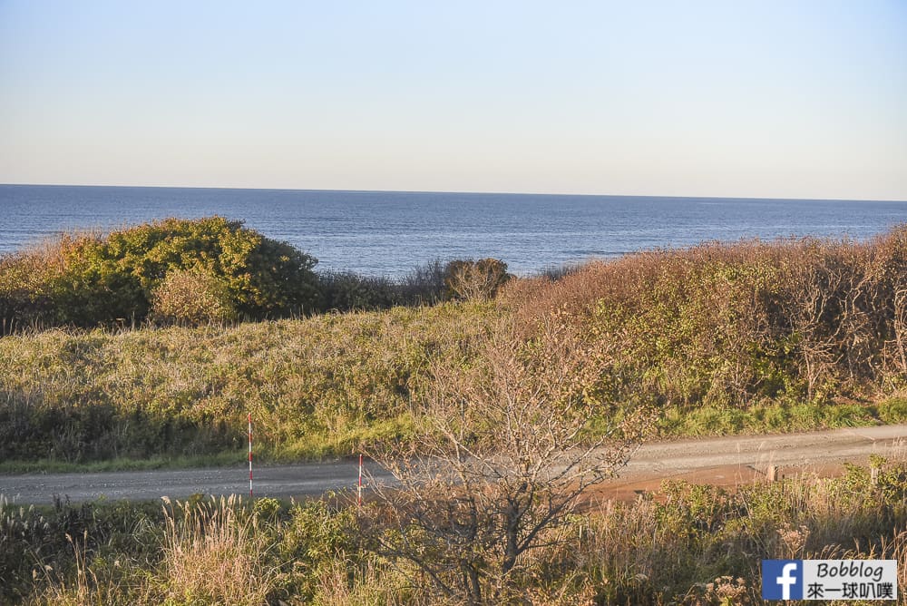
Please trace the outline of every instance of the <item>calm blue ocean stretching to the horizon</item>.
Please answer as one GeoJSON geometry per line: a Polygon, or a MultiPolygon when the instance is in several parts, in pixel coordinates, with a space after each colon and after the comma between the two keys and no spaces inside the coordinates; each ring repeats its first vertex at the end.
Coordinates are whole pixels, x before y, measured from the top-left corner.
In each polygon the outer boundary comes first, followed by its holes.
{"type": "Polygon", "coordinates": [[[317,269],[396,277],[431,259],[496,257],[529,274],[713,239],[866,239],[907,221],[907,201],[0,185],[0,253],[62,230],[213,214],[306,250],[317,269]]]}

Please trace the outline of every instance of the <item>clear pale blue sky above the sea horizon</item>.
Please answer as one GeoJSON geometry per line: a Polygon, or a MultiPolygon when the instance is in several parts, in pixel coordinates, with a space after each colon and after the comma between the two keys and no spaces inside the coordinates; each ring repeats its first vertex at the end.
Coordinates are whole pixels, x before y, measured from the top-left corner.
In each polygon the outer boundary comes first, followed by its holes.
{"type": "Polygon", "coordinates": [[[0,0],[0,182],[907,200],[907,3],[0,0]]]}

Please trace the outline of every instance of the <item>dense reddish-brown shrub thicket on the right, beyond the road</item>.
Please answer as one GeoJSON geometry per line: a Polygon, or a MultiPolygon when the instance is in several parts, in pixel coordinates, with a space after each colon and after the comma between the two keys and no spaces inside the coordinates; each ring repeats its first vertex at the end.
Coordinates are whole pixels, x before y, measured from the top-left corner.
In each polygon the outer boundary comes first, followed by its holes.
{"type": "MultiPolygon", "coordinates": [[[[522,281],[522,280],[518,280],[522,281]]],[[[872,401],[907,380],[907,226],[866,242],[745,240],[593,262],[502,298],[619,343],[599,396],[666,408],[872,401]]],[[[613,348],[613,347],[612,347],[613,348]]]]}

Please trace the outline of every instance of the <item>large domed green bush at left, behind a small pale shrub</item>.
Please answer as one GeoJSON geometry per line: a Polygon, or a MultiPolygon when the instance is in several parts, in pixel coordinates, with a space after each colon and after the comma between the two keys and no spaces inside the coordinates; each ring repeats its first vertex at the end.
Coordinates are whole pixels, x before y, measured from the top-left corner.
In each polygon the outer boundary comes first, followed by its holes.
{"type": "Polygon", "coordinates": [[[107,235],[63,235],[4,258],[0,311],[19,325],[137,321],[148,315],[153,293],[168,275],[194,272],[209,277],[209,292],[201,294],[210,296],[216,280],[219,298],[229,298],[229,308],[241,317],[308,313],[317,308],[316,263],[240,221],[159,220],[107,235]]]}

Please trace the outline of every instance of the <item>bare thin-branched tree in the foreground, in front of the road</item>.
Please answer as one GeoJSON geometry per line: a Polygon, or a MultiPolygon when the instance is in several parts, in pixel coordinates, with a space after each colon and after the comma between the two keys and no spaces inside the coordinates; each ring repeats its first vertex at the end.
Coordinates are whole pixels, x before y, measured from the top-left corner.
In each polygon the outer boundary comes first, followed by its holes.
{"type": "MultiPolygon", "coordinates": [[[[398,481],[378,487],[380,548],[453,601],[506,601],[523,556],[582,494],[626,464],[649,415],[590,435],[590,397],[610,351],[561,317],[528,341],[498,330],[473,367],[447,360],[417,439],[385,444],[375,460],[398,481]]],[[[415,576],[414,576],[415,578],[415,576]]]]}

